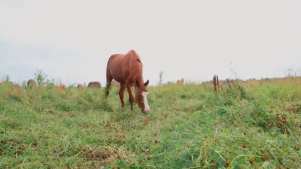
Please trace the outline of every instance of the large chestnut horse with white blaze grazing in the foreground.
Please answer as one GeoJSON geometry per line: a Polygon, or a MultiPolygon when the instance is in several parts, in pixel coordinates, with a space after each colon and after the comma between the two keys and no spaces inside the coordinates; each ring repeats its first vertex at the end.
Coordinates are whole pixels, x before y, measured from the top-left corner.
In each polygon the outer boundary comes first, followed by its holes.
{"type": "Polygon", "coordinates": [[[149,94],[147,85],[149,80],[144,83],[142,78],[142,61],[135,50],[130,50],[126,54],[113,54],[110,56],[106,67],[106,87],[105,95],[108,96],[112,80],[120,83],[119,97],[121,106],[124,107],[124,90],[127,88],[131,111],[133,109],[134,96],[131,86],[135,86],[135,98],[139,108],[143,113],[150,112],[147,96],[149,94]]]}

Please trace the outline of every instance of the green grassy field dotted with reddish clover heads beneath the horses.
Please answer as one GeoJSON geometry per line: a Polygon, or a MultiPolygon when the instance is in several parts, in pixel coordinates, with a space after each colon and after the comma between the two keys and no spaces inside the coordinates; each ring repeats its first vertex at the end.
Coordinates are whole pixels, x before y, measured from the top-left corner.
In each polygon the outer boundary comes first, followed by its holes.
{"type": "Polygon", "coordinates": [[[117,87],[2,84],[0,168],[301,168],[301,79],[148,89],[145,115],[117,87]]]}

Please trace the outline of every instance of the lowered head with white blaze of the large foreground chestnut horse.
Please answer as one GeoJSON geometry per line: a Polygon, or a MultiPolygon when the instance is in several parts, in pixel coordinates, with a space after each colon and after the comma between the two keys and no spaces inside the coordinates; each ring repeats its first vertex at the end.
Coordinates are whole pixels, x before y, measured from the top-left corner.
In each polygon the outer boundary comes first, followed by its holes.
{"type": "Polygon", "coordinates": [[[139,108],[143,113],[149,113],[150,112],[150,106],[148,103],[148,94],[149,91],[147,89],[147,86],[149,84],[149,80],[147,80],[146,83],[143,82],[143,80],[137,80],[135,85],[135,98],[138,103],[139,108]]]}

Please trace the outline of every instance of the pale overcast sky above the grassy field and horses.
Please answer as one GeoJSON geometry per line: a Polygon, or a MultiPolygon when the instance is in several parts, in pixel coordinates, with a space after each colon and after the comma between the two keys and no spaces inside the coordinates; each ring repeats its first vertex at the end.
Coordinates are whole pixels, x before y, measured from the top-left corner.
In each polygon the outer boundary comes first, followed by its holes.
{"type": "Polygon", "coordinates": [[[109,56],[130,49],[152,85],[159,71],[164,83],[301,75],[301,1],[0,0],[0,80],[41,69],[105,84],[109,56]]]}

